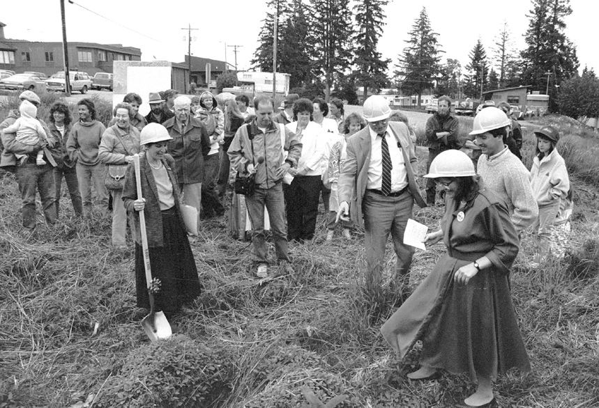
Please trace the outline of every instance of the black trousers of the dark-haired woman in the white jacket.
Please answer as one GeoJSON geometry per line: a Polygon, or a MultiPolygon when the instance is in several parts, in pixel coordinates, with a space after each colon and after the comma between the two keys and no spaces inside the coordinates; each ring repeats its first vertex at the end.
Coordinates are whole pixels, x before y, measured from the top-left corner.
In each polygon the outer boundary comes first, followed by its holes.
{"type": "Polygon", "coordinates": [[[301,175],[285,188],[289,241],[312,240],[314,237],[321,186],[319,175],[301,175]]]}

